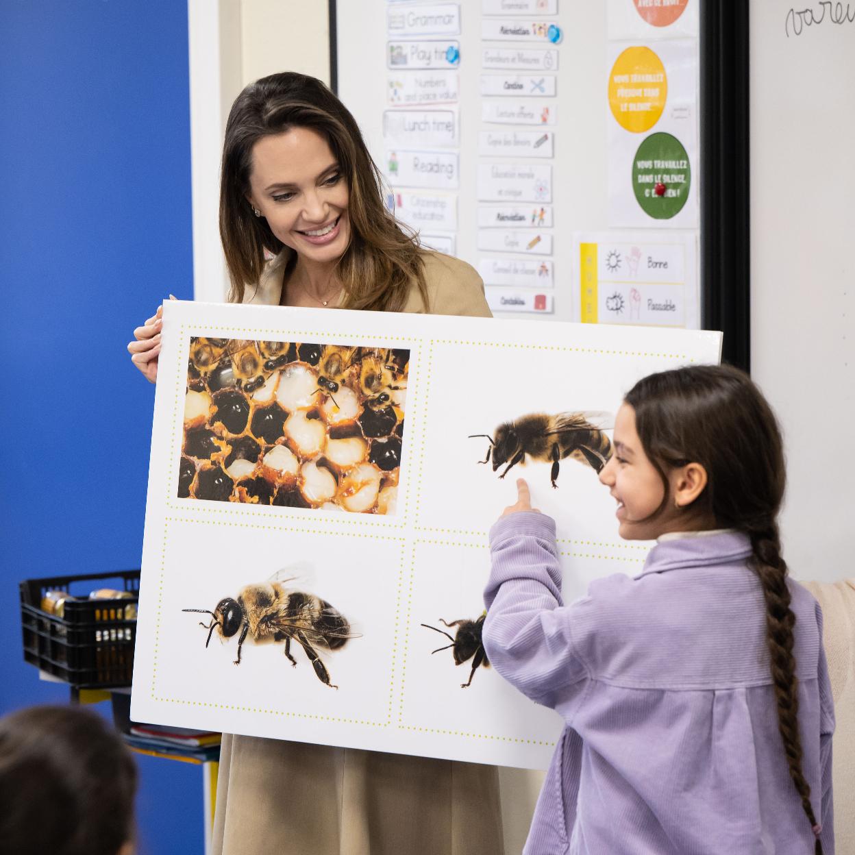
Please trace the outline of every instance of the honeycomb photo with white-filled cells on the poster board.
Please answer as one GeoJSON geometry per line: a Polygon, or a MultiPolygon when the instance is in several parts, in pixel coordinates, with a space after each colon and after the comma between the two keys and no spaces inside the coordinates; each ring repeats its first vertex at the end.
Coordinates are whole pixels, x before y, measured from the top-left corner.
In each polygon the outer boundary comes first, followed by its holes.
{"type": "Polygon", "coordinates": [[[410,351],[190,339],[178,497],[394,514],[410,351]]]}

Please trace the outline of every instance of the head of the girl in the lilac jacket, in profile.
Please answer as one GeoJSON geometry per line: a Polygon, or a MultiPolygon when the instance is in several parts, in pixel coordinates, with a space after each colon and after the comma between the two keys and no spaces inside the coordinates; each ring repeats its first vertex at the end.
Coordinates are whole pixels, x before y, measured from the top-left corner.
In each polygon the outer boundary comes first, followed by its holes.
{"type": "Polygon", "coordinates": [[[639,380],[618,410],[614,446],[600,481],[619,503],[622,537],[738,528],[752,543],[776,540],[781,433],[738,369],[697,365],[639,380]]]}

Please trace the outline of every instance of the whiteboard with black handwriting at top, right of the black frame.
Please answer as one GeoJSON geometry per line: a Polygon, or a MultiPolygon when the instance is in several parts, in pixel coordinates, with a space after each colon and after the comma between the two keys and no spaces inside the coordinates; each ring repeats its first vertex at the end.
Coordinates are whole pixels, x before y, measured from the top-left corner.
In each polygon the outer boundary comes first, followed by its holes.
{"type": "Polygon", "coordinates": [[[855,575],[855,8],[798,9],[750,5],[752,374],[787,444],[787,563],[834,581],[855,575]]]}

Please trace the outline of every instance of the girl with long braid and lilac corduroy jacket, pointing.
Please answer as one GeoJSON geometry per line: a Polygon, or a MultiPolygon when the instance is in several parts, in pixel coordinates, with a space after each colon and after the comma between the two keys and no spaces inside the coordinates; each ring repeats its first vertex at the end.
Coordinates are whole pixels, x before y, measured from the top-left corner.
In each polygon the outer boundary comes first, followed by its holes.
{"type": "Polygon", "coordinates": [[[781,435],[745,374],[640,380],[600,481],[640,575],[565,605],[528,486],[490,533],[484,646],[566,728],[526,853],[832,855],[834,713],[816,600],[787,580],[781,435]]]}

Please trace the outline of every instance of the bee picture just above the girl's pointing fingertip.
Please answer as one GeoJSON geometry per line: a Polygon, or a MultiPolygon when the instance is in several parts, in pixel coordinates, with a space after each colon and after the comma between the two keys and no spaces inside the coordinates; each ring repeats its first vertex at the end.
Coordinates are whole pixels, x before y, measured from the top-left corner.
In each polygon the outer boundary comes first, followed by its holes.
{"type": "Polygon", "coordinates": [[[597,473],[611,457],[611,442],[603,431],[610,427],[611,416],[601,412],[559,413],[547,416],[532,413],[515,422],[505,422],[496,428],[495,436],[473,433],[469,439],[481,437],[490,441],[486,457],[479,463],[489,463],[492,471],[507,465],[499,478],[504,478],[517,463],[526,457],[552,463],[550,479],[557,487],[558,466],[564,457],[573,457],[587,463],[597,473]]]}

